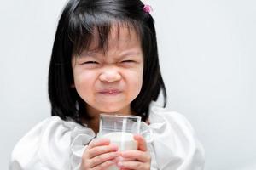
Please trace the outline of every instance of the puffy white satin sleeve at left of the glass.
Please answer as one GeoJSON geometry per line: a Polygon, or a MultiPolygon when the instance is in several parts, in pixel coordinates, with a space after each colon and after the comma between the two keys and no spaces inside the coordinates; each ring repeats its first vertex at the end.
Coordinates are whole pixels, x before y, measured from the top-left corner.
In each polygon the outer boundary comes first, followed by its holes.
{"type": "Polygon", "coordinates": [[[15,145],[9,169],[79,169],[84,145],[94,137],[90,128],[51,116],[33,127],[15,145]]]}

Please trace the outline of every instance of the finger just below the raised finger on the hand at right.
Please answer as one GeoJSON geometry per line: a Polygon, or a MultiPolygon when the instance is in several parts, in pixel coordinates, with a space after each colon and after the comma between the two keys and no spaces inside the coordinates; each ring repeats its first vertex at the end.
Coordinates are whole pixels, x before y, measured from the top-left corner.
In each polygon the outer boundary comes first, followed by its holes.
{"type": "Polygon", "coordinates": [[[141,150],[126,150],[121,152],[121,156],[124,160],[137,160],[147,162],[150,161],[151,157],[148,152],[141,150]]]}

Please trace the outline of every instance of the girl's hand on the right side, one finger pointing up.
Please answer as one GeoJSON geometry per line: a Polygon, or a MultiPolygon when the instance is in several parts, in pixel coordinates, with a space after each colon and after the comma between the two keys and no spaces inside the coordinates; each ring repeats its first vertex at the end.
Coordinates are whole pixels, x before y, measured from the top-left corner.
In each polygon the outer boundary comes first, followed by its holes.
{"type": "Polygon", "coordinates": [[[134,170],[150,170],[151,156],[147,151],[147,144],[143,136],[134,135],[134,139],[137,140],[138,150],[126,150],[121,152],[121,156],[124,159],[134,161],[119,161],[118,167],[122,170],[134,169],[134,170]]]}

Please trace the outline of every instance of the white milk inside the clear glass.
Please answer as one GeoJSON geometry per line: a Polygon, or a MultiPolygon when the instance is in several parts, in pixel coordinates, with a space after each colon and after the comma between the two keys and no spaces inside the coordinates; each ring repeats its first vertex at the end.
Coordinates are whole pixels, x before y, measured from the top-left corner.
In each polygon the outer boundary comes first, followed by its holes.
{"type": "MultiPolygon", "coordinates": [[[[102,136],[102,138],[110,139],[111,144],[116,144],[119,147],[119,151],[123,150],[137,150],[137,141],[133,139],[132,133],[116,132],[108,133],[102,136]]],[[[119,167],[115,165],[108,167],[107,170],[119,170],[119,167]]]]}

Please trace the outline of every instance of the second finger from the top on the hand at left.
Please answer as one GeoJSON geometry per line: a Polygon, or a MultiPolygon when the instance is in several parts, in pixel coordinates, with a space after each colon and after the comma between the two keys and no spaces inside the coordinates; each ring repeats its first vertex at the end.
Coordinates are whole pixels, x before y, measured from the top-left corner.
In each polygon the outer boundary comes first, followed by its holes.
{"type": "Polygon", "coordinates": [[[95,156],[99,156],[108,152],[116,152],[119,148],[115,144],[109,144],[109,145],[103,145],[103,146],[96,146],[94,148],[91,148],[90,150],[87,150],[88,157],[91,159],[95,156]]]}

